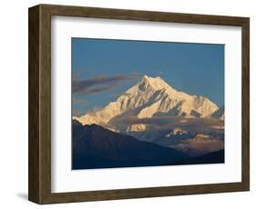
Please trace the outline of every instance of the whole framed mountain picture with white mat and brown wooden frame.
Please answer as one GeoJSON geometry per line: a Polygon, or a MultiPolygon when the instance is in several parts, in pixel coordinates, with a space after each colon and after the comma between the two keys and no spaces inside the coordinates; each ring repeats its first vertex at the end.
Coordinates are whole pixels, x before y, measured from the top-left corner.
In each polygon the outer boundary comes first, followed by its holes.
{"type": "Polygon", "coordinates": [[[28,199],[249,191],[249,25],[29,8],[28,199]]]}

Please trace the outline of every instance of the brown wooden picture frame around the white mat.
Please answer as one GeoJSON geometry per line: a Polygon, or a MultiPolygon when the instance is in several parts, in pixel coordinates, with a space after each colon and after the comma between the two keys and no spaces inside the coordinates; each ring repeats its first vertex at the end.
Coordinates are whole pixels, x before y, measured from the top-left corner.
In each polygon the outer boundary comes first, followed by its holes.
{"type": "Polygon", "coordinates": [[[29,8],[29,186],[28,199],[57,204],[180,194],[210,194],[250,189],[250,19],[67,5],[29,8]],[[51,16],[110,18],[200,25],[241,26],[242,31],[242,169],[241,183],[196,184],[91,192],[51,192],[51,16]]]}

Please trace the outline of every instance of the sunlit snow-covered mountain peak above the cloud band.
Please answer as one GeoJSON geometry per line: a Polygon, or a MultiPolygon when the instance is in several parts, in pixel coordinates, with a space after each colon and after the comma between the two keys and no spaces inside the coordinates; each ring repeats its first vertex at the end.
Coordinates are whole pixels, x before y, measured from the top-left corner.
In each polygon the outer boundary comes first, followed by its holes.
{"type": "MultiPolygon", "coordinates": [[[[117,118],[134,116],[139,119],[154,116],[210,117],[219,107],[204,96],[188,95],[172,88],[162,78],[144,75],[138,84],[120,95],[116,102],[104,108],[74,117],[81,124],[100,124],[107,128],[117,118]]],[[[145,130],[144,124],[128,127],[145,130]]]]}

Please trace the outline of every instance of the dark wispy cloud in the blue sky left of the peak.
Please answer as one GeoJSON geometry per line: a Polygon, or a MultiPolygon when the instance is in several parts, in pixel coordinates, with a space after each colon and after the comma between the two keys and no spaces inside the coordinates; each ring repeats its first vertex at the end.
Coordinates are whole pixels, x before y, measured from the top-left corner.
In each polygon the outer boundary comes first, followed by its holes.
{"type": "Polygon", "coordinates": [[[92,95],[115,88],[122,82],[135,80],[135,76],[115,75],[115,76],[97,76],[87,80],[73,80],[72,91],[74,94],[92,95]]]}

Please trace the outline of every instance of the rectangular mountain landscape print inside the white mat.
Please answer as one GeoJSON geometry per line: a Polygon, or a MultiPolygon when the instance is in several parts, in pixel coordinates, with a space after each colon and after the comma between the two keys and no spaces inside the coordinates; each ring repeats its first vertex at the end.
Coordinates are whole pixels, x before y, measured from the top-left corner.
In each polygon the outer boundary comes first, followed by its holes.
{"type": "Polygon", "coordinates": [[[71,45],[73,170],[224,163],[225,45],[71,45]]]}

